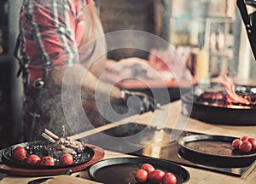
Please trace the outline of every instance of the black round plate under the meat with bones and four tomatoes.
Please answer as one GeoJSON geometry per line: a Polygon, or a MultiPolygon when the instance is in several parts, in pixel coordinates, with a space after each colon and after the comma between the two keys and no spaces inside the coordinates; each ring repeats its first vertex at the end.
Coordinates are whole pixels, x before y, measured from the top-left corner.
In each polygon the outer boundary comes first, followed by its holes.
{"type": "Polygon", "coordinates": [[[24,142],[20,144],[16,144],[14,146],[6,148],[2,153],[3,163],[13,167],[19,167],[23,169],[38,169],[38,170],[49,170],[49,169],[60,169],[60,168],[67,168],[72,167],[79,164],[84,164],[90,161],[91,158],[94,156],[94,150],[90,147],[85,147],[84,151],[78,153],[76,156],[73,157],[73,164],[69,165],[62,165],[58,158],[55,158],[55,165],[54,166],[45,166],[45,165],[33,165],[33,164],[26,164],[25,161],[17,161],[13,158],[13,150],[15,147],[24,147],[26,149],[27,154],[37,154],[40,158],[47,156],[48,152],[45,149],[49,145],[49,141],[32,141],[32,142],[24,142]],[[28,153],[29,152],[29,153],[28,153]]]}

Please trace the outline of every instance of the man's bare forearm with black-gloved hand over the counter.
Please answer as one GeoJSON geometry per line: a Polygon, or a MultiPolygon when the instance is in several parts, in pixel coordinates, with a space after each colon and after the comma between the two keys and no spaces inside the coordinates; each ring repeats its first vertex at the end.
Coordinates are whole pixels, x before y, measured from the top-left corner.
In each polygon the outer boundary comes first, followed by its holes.
{"type": "Polygon", "coordinates": [[[81,86],[82,96],[86,99],[95,99],[95,94],[101,97],[101,100],[106,100],[108,97],[111,102],[127,102],[128,99],[136,95],[141,104],[141,113],[154,111],[159,104],[156,103],[154,98],[139,92],[131,92],[125,89],[119,89],[111,83],[105,83],[84,68],[80,64],[75,64],[73,67],[65,70],[53,69],[51,72],[52,78],[58,85],[68,84],[81,86]]]}

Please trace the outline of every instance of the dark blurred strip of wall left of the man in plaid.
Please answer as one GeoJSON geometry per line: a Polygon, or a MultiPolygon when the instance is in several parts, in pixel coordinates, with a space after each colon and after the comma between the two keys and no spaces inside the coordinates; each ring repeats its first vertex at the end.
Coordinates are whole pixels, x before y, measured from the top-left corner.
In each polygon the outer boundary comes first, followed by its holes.
{"type": "Polygon", "coordinates": [[[2,0],[0,29],[3,53],[0,54],[0,147],[22,141],[22,88],[16,77],[18,62],[14,57],[18,20],[22,1],[2,0]]]}

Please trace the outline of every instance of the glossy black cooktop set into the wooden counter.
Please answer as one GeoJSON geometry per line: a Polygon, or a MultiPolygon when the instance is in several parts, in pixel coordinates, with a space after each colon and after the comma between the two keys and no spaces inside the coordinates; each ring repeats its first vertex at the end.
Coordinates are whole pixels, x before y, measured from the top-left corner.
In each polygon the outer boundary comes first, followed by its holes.
{"type": "Polygon", "coordinates": [[[128,154],[166,159],[176,164],[202,170],[211,170],[225,175],[242,176],[250,169],[253,169],[253,165],[256,163],[255,158],[250,158],[239,162],[235,159],[226,160],[225,158],[202,157],[191,152],[186,152],[179,146],[178,139],[188,135],[199,134],[177,129],[156,129],[143,124],[131,123],[120,124],[118,127],[108,129],[103,132],[103,135],[90,135],[86,138],[86,141],[89,141],[92,144],[100,143],[102,148],[115,152],[123,152],[124,148],[127,146],[135,148],[137,147],[137,149],[134,149],[137,151],[128,152],[128,154]],[[115,144],[115,142],[106,143],[105,141],[104,135],[113,137],[129,137],[131,135],[137,135],[137,133],[141,131],[143,131],[143,135],[137,136],[135,141],[124,141],[122,144],[115,144]],[[150,141],[150,144],[148,144],[147,147],[142,148],[143,145],[146,145],[145,142],[153,139],[154,135],[158,136],[154,139],[154,141],[150,141]],[[178,135],[178,137],[174,141],[170,141],[170,135],[178,135]]]}

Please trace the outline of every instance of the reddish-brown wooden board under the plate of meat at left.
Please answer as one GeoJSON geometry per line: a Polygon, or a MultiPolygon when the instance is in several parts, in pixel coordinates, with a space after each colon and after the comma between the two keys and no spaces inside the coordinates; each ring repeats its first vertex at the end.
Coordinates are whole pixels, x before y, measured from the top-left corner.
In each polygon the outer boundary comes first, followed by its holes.
{"type": "MultiPolygon", "coordinates": [[[[64,175],[67,170],[73,170],[73,172],[78,172],[81,170],[85,170],[91,164],[100,161],[104,157],[104,150],[102,147],[97,147],[95,145],[86,144],[88,147],[91,147],[95,154],[93,158],[90,159],[89,162],[84,164],[75,165],[73,167],[60,168],[55,170],[29,170],[23,168],[16,168],[13,166],[6,165],[4,163],[0,163],[0,172],[9,174],[9,175],[24,175],[24,176],[45,176],[45,175],[64,175]]],[[[1,152],[2,155],[2,152],[1,152]]]]}

